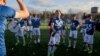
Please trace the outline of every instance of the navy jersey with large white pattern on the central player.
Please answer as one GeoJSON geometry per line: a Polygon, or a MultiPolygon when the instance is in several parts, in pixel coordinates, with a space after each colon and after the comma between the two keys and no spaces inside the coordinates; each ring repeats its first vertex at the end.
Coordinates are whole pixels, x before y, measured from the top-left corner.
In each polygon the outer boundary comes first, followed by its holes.
{"type": "Polygon", "coordinates": [[[59,18],[57,18],[57,17],[53,18],[52,21],[51,21],[51,23],[54,24],[54,29],[55,29],[56,31],[61,30],[62,27],[63,27],[63,20],[62,20],[62,19],[59,19],[59,18]]]}

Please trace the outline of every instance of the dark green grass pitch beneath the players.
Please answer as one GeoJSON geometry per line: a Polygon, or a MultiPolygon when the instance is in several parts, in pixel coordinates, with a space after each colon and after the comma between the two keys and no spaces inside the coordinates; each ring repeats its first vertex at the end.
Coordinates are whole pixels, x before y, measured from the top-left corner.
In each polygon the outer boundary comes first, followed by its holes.
{"type": "MultiPolygon", "coordinates": [[[[66,30],[66,45],[60,43],[58,49],[55,52],[55,56],[100,56],[100,32],[95,32],[94,37],[94,51],[92,54],[83,52],[82,36],[78,34],[78,42],[75,50],[67,51],[68,45],[68,30],[66,30]]],[[[47,47],[49,41],[48,28],[41,27],[41,44],[40,46],[34,43],[29,43],[29,39],[26,38],[27,45],[21,44],[15,46],[14,34],[6,30],[5,33],[7,56],[47,56],[47,47]]]]}

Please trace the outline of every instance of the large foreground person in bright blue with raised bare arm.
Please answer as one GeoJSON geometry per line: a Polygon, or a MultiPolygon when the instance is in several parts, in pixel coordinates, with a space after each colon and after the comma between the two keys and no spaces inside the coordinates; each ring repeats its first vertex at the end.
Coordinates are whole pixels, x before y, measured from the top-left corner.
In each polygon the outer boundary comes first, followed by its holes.
{"type": "Polygon", "coordinates": [[[20,10],[18,12],[8,6],[5,6],[6,0],[0,0],[0,56],[6,56],[4,38],[6,20],[8,18],[26,18],[29,16],[29,12],[23,3],[23,0],[17,0],[17,2],[20,6],[20,10]]]}

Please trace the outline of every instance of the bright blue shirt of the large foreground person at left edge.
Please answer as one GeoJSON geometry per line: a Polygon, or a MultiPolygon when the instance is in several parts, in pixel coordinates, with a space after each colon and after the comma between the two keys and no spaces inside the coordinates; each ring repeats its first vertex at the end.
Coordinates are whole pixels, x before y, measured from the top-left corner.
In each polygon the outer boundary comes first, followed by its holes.
{"type": "Polygon", "coordinates": [[[4,5],[0,5],[0,56],[2,56],[2,54],[4,54],[3,56],[6,56],[4,32],[7,19],[14,18],[15,14],[16,12],[14,9],[4,5]]]}

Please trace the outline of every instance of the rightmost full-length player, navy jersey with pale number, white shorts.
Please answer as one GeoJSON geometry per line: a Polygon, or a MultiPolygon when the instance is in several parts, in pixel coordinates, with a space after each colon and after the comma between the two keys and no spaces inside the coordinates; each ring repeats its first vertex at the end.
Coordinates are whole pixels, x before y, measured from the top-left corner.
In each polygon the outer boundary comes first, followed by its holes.
{"type": "Polygon", "coordinates": [[[95,22],[91,15],[88,15],[88,20],[86,21],[86,34],[84,36],[84,42],[86,49],[84,51],[88,51],[88,53],[92,53],[93,51],[93,35],[95,30],[95,22]]]}

